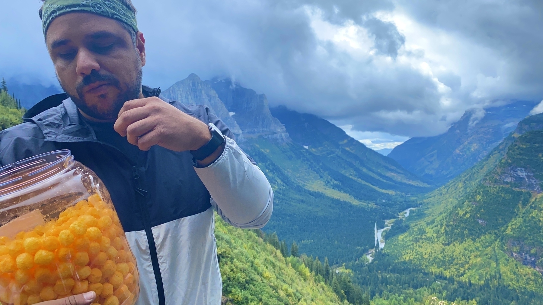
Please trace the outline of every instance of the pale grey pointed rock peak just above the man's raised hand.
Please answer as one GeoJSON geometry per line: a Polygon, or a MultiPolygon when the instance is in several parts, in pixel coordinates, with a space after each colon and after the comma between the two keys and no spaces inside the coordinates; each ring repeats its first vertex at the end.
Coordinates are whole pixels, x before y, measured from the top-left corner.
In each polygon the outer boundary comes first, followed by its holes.
{"type": "Polygon", "coordinates": [[[243,141],[243,132],[236,120],[232,118],[224,103],[217,93],[196,74],[189,75],[186,79],[176,82],[172,87],[162,92],[167,99],[178,100],[185,105],[206,105],[211,113],[217,115],[224,124],[236,135],[238,142],[243,141]]]}

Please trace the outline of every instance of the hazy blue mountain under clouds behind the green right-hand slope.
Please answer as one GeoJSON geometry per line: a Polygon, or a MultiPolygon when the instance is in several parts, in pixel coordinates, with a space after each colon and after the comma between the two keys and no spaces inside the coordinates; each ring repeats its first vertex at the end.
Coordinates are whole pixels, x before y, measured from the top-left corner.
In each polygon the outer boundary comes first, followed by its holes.
{"type": "Polygon", "coordinates": [[[443,185],[482,160],[534,106],[533,102],[516,101],[484,110],[470,109],[446,133],[409,139],[388,157],[408,171],[443,185]]]}

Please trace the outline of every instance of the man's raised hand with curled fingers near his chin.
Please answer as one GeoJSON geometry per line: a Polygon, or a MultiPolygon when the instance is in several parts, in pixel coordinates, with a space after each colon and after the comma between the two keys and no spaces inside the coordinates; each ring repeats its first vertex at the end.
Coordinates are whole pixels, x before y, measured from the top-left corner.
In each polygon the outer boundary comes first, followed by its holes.
{"type": "Polygon", "coordinates": [[[154,96],[125,102],[113,128],[143,151],[153,145],[195,151],[211,140],[204,122],[154,96]]]}

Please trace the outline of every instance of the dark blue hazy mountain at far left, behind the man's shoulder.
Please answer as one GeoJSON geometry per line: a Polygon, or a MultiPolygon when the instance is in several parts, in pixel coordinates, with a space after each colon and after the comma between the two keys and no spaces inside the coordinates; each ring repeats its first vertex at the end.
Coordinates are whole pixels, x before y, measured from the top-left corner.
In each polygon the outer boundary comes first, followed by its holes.
{"type": "Polygon", "coordinates": [[[47,98],[47,96],[62,93],[59,87],[50,85],[48,87],[41,85],[40,82],[21,82],[15,77],[6,80],[10,93],[15,94],[15,98],[21,100],[21,106],[26,109],[32,108],[37,102],[47,98]]]}

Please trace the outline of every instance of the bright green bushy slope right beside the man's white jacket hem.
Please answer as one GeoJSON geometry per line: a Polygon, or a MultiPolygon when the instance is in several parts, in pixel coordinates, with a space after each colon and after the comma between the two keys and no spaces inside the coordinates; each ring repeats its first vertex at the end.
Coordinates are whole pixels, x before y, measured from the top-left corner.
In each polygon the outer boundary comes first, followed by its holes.
{"type": "Polygon", "coordinates": [[[283,257],[255,231],[216,220],[223,295],[233,304],[349,304],[340,301],[329,285],[315,281],[305,265],[293,267],[298,258],[283,257]]]}

